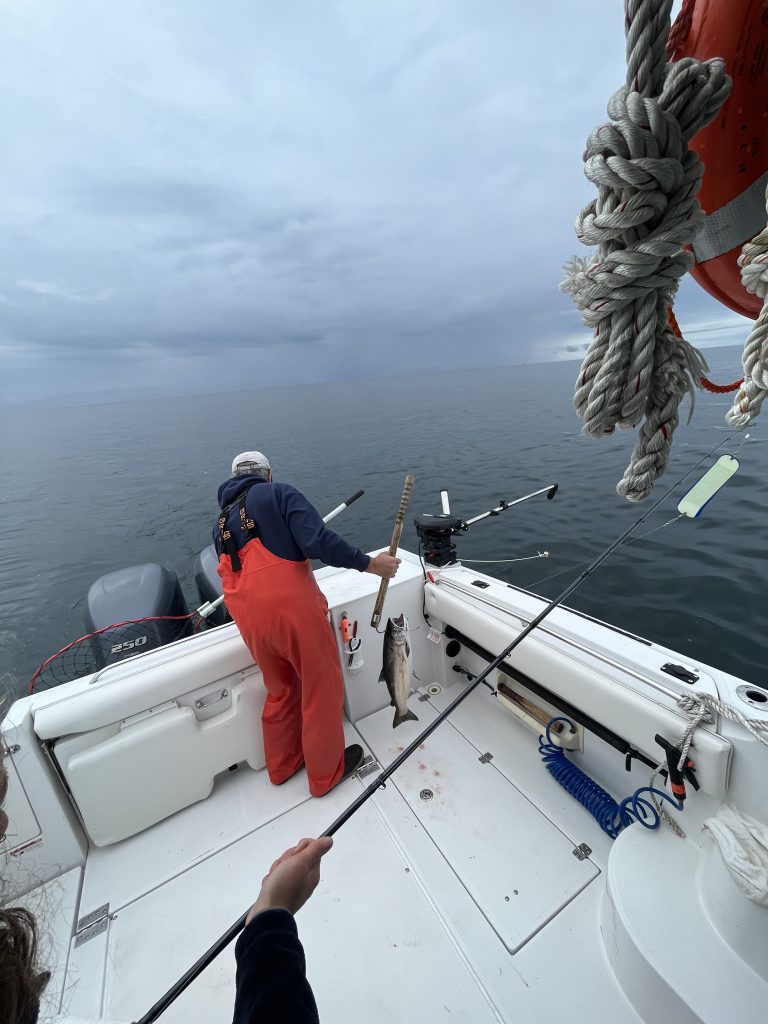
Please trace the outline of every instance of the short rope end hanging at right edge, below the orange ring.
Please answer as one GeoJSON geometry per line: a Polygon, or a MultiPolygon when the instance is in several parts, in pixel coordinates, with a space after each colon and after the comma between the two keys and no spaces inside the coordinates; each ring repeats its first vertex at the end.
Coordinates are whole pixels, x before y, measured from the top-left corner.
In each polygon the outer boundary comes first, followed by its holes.
{"type": "Polygon", "coordinates": [[[768,391],[768,227],[744,245],[738,265],[741,267],[741,284],[748,292],[759,295],[763,300],[763,308],[744,343],[741,356],[744,379],[725,417],[731,427],[743,430],[760,415],[760,407],[768,391]]]}

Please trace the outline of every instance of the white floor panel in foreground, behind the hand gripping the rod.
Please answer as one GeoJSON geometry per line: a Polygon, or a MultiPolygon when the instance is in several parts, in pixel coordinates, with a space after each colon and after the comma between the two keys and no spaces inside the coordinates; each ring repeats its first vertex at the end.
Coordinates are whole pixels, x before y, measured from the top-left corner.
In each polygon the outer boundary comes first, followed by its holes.
{"type": "MultiPolygon", "coordinates": [[[[100,1013],[122,1021],[143,1014],[248,906],[270,860],[302,835],[322,831],[357,792],[352,782],[309,801],[122,909],[104,937],[100,1013]]],[[[497,1020],[371,805],[344,826],[298,925],[323,1020],[497,1020]]],[[[227,949],[164,1021],[230,1019],[233,985],[227,949]]]]}

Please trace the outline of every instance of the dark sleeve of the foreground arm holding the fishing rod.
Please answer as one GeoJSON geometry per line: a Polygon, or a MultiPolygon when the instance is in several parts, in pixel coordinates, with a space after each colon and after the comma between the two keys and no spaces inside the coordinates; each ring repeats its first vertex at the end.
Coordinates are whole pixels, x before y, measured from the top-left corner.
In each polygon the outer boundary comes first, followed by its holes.
{"type": "Polygon", "coordinates": [[[319,1024],[304,950],[288,910],[262,910],[238,939],[232,1024],[319,1024]]]}

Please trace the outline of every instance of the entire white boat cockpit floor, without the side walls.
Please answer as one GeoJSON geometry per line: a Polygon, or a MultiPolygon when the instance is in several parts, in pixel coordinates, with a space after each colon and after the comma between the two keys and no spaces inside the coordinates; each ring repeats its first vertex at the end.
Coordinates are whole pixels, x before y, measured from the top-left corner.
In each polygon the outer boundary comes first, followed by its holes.
{"type": "MultiPolygon", "coordinates": [[[[342,827],[325,858],[321,886],[298,915],[322,1020],[544,1024],[562,1020],[565,1000],[571,1020],[591,1021],[596,991],[602,1019],[639,1020],[600,954],[602,887],[591,883],[610,841],[556,793],[529,749],[536,738],[514,720],[504,722],[506,746],[490,763],[478,760],[472,734],[487,737],[486,703],[482,691],[472,694],[342,827]],[[514,762],[536,772],[523,783],[539,791],[540,807],[547,792],[553,809],[567,807],[571,835],[513,784],[514,762]],[[420,796],[425,788],[429,800],[420,796]],[[594,859],[572,854],[585,837],[594,859]]],[[[420,721],[396,731],[389,708],[358,723],[382,764],[436,714],[416,697],[411,705],[420,721]]],[[[348,739],[358,738],[346,728],[348,739]]],[[[247,908],[269,860],[323,831],[373,777],[312,800],[303,772],[275,787],[263,771],[237,771],[211,799],[91,849],[81,914],[109,902],[111,920],[73,948],[62,1009],[137,1019],[247,908]]],[[[164,1020],[226,1021],[233,986],[228,949],[164,1020]]],[[[55,1002],[51,990],[49,1011],[55,1002]]]]}

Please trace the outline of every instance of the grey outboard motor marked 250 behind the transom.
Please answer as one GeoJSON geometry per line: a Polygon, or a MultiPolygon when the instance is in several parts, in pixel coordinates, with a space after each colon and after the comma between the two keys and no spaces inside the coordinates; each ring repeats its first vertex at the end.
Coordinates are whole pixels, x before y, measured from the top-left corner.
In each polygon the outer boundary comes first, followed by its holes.
{"type": "Polygon", "coordinates": [[[100,577],[85,601],[86,630],[92,633],[118,623],[126,625],[93,637],[96,667],[102,669],[188,636],[191,622],[181,617],[187,614],[176,573],[156,562],[100,577]]]}

